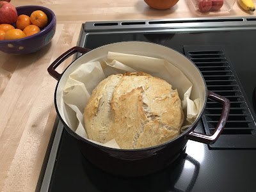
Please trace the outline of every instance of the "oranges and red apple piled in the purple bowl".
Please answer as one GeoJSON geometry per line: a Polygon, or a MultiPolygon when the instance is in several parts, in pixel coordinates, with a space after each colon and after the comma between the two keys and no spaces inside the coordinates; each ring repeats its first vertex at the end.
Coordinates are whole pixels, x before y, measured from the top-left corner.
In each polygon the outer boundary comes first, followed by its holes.
{"type": "Polygon", "coordinates": [[[34,35],[47,26],[47,22],[47,15],[41,10],[18,17],[12,4],[0,1],[0,40],[15,40],[34,35]]]}

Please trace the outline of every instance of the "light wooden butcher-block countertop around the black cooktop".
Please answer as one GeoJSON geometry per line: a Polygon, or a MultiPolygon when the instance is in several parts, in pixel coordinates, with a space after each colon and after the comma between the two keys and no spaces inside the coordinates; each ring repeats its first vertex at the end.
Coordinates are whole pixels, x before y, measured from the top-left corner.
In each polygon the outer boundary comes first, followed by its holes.
{"type": "MultiPolygon", "coordinates": [[[[253,16],[237,3],[230,12],[202,14],[196,11],[194,1],[180,0],[168,10],[154,10],[143,0],[12,0],[13,6],[34,4],[50,8],[56,14],[57,28],[51,44],[33,54],[0,52],[0,190],[38,189],[38,177],[56,119],[57,81],[49,76],[47,67],[77,44],[81,24],[92,20],[253,16]]],[[[61,72],[71,61],[68,58],[58,70],[61,72]]]]}

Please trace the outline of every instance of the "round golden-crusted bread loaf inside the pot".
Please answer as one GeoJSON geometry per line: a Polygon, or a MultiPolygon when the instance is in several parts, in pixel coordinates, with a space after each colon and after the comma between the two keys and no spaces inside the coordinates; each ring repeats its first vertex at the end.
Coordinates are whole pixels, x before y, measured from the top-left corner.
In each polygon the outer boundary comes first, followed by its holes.
{"type": "Polygon", "coordinates": [[[84,109],[88,139],[120,148],[147,148],[179,136],[184,122],[177,90],[144,72],[116,74],[101,81],[84,109]]]}

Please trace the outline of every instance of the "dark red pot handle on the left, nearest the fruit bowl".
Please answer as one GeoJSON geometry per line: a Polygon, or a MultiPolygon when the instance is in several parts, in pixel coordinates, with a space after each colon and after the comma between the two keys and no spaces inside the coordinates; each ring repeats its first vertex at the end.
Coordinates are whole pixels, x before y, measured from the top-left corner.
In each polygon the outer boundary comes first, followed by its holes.
{"type": "Polygon", "coordinates": [[[58,72],[56,72],[56,68],[63,62],[65,61],[67,58],[69,58],[70,56],[72,56],[72,54],[75,54],[76,52],[81,52],[81,53],[85,53],[90,51],[90,49],[86,49],[83,47],[72,47],[71,49],[68,49],[68,51],[64,52],[63,54],[61,54],[61,56],[59,56],[55,61],[53,61],[53,63],[47,68],[49,74],[54,77],[55,79],[60,79],[61,74],[59,74],[58,72]]]}

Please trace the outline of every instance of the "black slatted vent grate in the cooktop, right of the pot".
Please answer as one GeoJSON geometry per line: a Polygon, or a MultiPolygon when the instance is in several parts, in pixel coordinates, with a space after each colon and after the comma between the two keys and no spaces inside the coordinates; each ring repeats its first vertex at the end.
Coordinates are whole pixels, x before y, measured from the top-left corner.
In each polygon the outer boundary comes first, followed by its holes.
{"type": "MultiPolygon", "coordinates": [[[[209,148],[256,148],[255,115],[221,46],[184,46],[184,52],[202,72],[207,89],[230,100],[227,124],[209,148]]],[[[211,134],[218,124],[221,110],[221,104],[207,100],[202,115],[206,134],[211,134]]]]}

